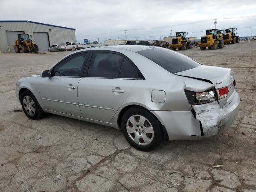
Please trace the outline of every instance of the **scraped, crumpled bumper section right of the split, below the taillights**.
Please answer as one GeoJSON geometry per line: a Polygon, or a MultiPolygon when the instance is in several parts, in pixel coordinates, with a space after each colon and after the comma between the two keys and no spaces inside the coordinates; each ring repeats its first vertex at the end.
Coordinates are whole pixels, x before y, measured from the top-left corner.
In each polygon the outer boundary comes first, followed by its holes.
{"type": "Polygon", "coordinates": [[[240,96],[234,91],[232,101],[221,108],[218,102],[193,106],[196,119],[201,122],[202,136],[214,136],[226,131],[236,120],[240,96]]]}

